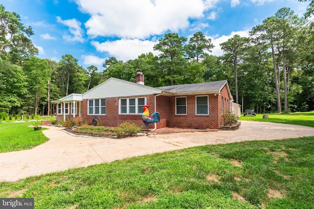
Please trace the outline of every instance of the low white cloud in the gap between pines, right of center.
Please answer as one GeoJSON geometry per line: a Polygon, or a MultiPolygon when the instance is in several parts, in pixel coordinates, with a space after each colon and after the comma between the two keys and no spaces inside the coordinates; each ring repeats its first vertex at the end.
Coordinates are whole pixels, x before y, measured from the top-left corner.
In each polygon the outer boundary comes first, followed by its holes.
{"type": "Polygon", "coordinates": [[[223,36],[220,36],[218,38],[217,38],[217,36],[209,37],[209,38],[211,38],[211,43],[214,45],[214,48],[212,49],[212,52],[210,54],[215,55],[215,56],[223,55],[224,52],[221,50],[220,44],[228,41],[228,39],[234,37],[235,34],[237,34],[241,37],[249,37],[249,30],[242,30],[242,31],[236,31],[236,32],[233,31],[228,36],[223,35],[223,36]]]}

